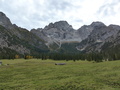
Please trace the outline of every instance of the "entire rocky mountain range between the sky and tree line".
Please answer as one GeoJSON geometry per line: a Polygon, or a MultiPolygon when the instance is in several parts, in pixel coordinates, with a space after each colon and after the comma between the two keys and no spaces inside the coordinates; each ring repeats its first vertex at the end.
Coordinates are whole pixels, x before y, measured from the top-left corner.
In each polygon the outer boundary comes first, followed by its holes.
{"type": "Polygon", "coordinates": [[[12,24],[0,12],[0,55],[40,53],[91,53],[120,50],[120,26],[96,21],[75,30],[67,21],[27,30],[12,24]]]}

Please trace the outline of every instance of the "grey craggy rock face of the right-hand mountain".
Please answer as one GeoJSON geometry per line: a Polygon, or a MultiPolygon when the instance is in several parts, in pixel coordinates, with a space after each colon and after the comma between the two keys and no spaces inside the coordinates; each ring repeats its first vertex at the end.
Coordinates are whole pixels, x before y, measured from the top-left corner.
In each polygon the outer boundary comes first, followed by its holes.
{"type": "MultiPolygon", "coordinates": [[[[110,25],[107,27],[104,24],[98,23],[94,23],[91,26],[94,27],[91,34],[77,47],[80,51],[100,52],[104,44],[108,42],[115,45],[114,41],[119,37],[120,26],[110,25]]],[[[120,42],[120,40],[117,42],[120,42]]],[[[109,46],[112,47],[113,45],[109,46]]]]}

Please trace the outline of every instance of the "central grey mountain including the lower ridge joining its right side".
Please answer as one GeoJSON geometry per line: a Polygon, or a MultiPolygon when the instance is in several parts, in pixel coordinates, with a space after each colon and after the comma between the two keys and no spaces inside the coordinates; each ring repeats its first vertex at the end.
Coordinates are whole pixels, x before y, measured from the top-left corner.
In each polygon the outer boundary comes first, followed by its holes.
{"type": "MultiPolygon", "coordinates": [[[[38,28],[31,30],[32,33],[46,41],[45,44],[50,50],[55,51],[60,51],[59,49],[61,49],[61,46],[64,47],[65,43],[69,43],[69,45],[80,43],[83,39],[88,37],[91,31],[91,27],[89,27],[89,29],[80,28],[79,30],[74,30],[66,21],[50,23],[43,29],[38,28]]],[[[70,47],[66,47],[63,51],[69,48],[70,47]]],[[[78,51],[76,47],[74,48],[78,51]]]]}

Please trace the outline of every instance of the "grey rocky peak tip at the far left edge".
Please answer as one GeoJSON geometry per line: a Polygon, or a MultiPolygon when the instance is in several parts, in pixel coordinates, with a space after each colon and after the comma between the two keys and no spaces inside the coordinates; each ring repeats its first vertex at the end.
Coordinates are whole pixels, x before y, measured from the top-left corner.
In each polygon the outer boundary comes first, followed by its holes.
{"type": "Polygon", "coordinates": [[[0,25],[9,29],[12,28],[12,23],[10,22],[10,19],[3,12],[0,12],[0,25]]]}

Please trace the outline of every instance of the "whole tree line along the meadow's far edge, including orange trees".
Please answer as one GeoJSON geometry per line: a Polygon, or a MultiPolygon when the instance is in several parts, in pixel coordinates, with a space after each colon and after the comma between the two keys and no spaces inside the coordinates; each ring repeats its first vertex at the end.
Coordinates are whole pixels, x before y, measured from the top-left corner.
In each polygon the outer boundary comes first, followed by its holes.
{"type": "Polygon", "coordinates": [[[52,60],[88,60],[88,61],[96,61],[102,62],[105,61],[112,61],[112,60],[120,60],[120,53],[40,53],[38,55],[19,55],[19,54],[12,54],[12,55],[0,55],[0,59],[52,59],[52,60]]]}

